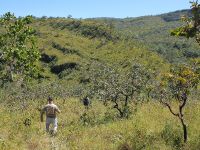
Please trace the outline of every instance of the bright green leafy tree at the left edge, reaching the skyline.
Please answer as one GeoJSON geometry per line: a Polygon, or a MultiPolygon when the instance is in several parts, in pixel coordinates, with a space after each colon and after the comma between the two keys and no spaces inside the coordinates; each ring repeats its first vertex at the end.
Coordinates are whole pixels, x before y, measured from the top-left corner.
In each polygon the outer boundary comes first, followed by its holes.
{"type": "Polygon", "coordinates": [[[0,34],[0,77],[4,81],[36,75],[40,53],[35,44],[35,31],[29,26],[31,20],[31,16],[16,18],[10,12],[0,19],[3,27],[0,34]]]}

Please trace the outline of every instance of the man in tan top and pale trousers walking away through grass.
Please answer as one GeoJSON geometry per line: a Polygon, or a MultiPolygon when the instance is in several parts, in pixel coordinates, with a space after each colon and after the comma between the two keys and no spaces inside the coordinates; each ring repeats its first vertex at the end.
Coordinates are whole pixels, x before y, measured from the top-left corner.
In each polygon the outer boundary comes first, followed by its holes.
{"type": "Polygon", "coordinates": [[[46,113],[46,131],[49,132],[49,126],[53,125],[53,134],[57,132],[58,120],[57,113],[60,113],[59,108],[53,103],[53,98],[48,97],[48,104],[41,110],[41,122],[43,122],[43,115],[46,113]]]}

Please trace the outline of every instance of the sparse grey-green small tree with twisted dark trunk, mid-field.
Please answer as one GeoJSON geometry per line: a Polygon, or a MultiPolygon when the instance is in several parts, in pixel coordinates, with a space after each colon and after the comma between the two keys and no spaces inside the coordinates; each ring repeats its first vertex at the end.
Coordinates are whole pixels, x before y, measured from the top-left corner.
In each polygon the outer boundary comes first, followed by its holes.
{"type": "Polygon", "coordinates": [[[147,70],[140,64],[134,63],[131,69],[117,70],[104,64],[92,64],[90,69],[91,90],[100,99],[114,104],[121,118],[129,115],[129,103],[146,87],[149,80],[147,70]],[[98,69],[97,69],[98,68],[98,69]]]}

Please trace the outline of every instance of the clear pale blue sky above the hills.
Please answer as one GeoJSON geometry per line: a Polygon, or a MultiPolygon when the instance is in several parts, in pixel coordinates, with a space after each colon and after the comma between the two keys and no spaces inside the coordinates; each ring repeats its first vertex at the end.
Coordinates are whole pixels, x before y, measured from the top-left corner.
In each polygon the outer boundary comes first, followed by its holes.
{"type": "Polygon", "coordinates": [[[137,17],[190,7],[189,0],[0,0],[0,14],[74,18],[137,17]]]}

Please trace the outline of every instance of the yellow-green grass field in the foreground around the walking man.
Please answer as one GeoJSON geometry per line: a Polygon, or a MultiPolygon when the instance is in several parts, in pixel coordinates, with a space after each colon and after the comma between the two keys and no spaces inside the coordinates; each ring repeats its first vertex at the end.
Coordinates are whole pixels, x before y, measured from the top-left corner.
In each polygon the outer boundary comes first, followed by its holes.
{"type": "MultiPolygon", "coordinates": [[[[200,104],[191,101],[186,108],[189,140],[183,144],[179,122],[167,108],[158,102],[144,102],[135,106],[129,119],[117,118],[114,110],[93,101],[86,111],[78,99],[56,103],[59,130],[55,137],[45,133],[45,124],[39,122],[38,106],[46,100],[16,103],[12,107],[1,105],[0,149],[191,149],[199,148],[200,104]],[[86,113],[87,115],[84,115],[86,113]],[[30,119],[30,125],[24,121],[30,119]]],[[[112,107],[112,106],[110,106],[112,107]]]]}

